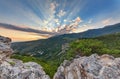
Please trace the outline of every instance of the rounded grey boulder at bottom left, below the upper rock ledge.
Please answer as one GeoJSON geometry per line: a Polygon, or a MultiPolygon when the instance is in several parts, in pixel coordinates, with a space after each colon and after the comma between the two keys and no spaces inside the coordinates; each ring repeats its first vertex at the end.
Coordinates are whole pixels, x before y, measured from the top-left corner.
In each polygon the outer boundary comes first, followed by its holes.
{"type": "Polygon", "coordinates": [[[23,63],[9,59],[0,66],[0,79],[50,79],[43,68],[35,62],[23,63]]]}

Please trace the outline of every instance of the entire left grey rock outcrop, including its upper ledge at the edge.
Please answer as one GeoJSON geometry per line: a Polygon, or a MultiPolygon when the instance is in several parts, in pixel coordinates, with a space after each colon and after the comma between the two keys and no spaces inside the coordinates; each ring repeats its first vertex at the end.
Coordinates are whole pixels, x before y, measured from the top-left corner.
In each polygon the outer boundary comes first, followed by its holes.
{"type": "Polygon", "coordinates": [[[0,36],[0,79],[50,79],[39,64],[10,59],[10,43],[10,38],[0,36]]]}

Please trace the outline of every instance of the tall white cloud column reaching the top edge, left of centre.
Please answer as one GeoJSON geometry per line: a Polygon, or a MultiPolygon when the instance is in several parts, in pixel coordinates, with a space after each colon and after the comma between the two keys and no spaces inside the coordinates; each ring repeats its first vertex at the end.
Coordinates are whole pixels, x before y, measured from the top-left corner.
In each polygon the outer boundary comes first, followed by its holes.
{"type": "Polygon", "coordinates": [[[47,12],[49,15],[46,19],[44,19],[43,26],[47,28],[47,30],[52,30],[56,25],[60,25],[60,20],[56,18],[56,8],[58,7],[58,3],[56,1],[50,1],[48,4],[47,12]]]}

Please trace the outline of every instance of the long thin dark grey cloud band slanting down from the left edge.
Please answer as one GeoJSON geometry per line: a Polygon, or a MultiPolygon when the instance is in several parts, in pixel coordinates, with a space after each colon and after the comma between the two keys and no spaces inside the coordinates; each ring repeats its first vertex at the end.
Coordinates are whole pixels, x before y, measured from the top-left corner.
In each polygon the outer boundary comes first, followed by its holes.
{"type": "Polygon", "coordinates": [[[55,34],[53,32],[36,30],[36,29],[32,29],[32,28],[21,28],[19,26],[15,26],[15,25],[11,25],[11,24],[5,24],[5,23],[0,23],[0,27],[5,28],[5,29],[23,31],[23,32],[37,33],[39,35],[54,35],[55,34]]]}

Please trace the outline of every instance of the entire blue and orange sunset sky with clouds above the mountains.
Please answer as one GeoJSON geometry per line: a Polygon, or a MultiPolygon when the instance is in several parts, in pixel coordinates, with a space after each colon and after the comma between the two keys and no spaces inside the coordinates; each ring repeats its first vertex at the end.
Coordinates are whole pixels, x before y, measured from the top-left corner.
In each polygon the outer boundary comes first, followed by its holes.
{"type": "Polygon", "coordinates": [[[0,35],[14,42],[120,22],[120,0],[0,0],[0,35]]]}

